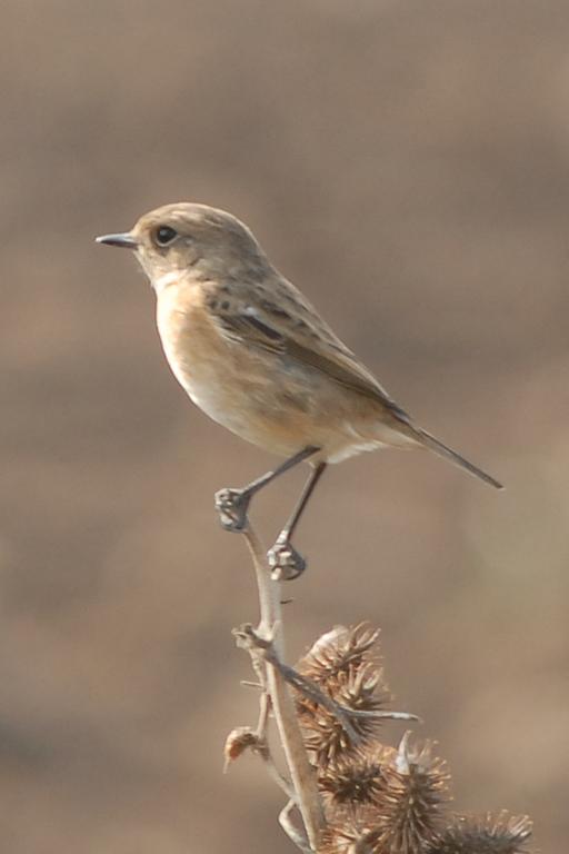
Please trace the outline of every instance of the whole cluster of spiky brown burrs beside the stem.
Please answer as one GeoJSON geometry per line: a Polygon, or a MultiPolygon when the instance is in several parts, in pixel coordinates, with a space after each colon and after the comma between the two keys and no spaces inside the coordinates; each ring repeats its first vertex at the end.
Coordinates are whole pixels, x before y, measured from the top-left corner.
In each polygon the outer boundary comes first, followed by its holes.
{"type": "MultiPolygon", "coordinates": [[[[378,646],[366,625],[323,635],[298,671],[335,703],[376,713],[390,694],[378,646]]],[[[480,817],[450,808],[450,774],[430,742],[398,747],[379,739],[381,719],[352,718],[351,733],[321,704],[299,696],[305,744],[326,811],[321,854],[519,854],[531,823],[506,812],[480,817]]]]}

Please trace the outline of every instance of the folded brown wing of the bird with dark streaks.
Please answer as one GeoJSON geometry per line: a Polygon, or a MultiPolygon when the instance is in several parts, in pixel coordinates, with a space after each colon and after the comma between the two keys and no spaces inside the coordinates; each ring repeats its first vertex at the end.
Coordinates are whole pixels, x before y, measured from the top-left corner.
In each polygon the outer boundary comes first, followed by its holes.
{"type": "Polygon", "coordinates": [[[210,307],[219,329],[233,341],[287,356],[320,370],[335,383],[382,404],[397,420],[409,423],[376,377],[335,335],[317,310],[290,282],[276,295],[262,299],[247,294],[216,300],[210,307]],[[286,296],[286,299],[282,297],[286,296]],[[279,298],[280,297],[280,298],[279,298]]]}

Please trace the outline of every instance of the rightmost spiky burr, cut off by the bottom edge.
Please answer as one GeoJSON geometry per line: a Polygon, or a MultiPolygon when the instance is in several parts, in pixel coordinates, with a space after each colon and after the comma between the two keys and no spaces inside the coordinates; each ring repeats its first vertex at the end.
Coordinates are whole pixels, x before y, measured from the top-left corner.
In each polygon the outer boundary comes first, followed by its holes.
{"type": "Polygon", "coordinates": [[[531,822],[526,815],[506,811],[481,818],[457,816],[427,854],[522,854],[531,836],[531,822]]]}

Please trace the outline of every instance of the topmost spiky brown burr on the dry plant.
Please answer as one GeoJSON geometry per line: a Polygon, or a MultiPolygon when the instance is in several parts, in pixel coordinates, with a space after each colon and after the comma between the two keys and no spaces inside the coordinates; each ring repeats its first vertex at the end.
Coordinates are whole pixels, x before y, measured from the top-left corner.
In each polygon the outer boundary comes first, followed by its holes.
{"type": "Polygon", "coordinates": [[[379,664],[379,629],[366,623],[358,626],[336,626],[318,638],[297,667],[305,676],[327,683],[341,673],[358,669],[363,664],[379,664]]]}

